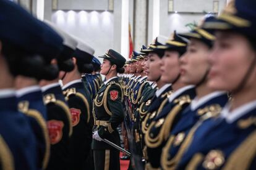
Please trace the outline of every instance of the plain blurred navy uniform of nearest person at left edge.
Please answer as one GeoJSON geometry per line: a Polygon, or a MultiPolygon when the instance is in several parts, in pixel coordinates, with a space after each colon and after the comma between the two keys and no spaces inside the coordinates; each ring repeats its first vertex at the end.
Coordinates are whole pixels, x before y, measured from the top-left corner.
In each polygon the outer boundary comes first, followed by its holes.
{"type": "Polygon", "coordinates": [[[28,119],[17,110],[14,95],[0,97],[0,116],[0,135],[6,144],[1,145],[1,151],[7,150],[1,158],[11,158],[9,161],[15,169],[38,169],[35,135],[28,119]]]}

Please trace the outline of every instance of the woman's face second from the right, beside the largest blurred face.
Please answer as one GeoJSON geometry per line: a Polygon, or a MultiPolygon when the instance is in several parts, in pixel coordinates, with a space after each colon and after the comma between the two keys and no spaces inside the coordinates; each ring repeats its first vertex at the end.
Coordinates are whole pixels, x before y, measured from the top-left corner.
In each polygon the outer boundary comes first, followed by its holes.
{"type": "Polygon", "coordinates": [[[181,81],[185,84],[198,84],[210,69],[209,47],[198,39],[190,39],[187,52],[180,58],[181,81]]]}

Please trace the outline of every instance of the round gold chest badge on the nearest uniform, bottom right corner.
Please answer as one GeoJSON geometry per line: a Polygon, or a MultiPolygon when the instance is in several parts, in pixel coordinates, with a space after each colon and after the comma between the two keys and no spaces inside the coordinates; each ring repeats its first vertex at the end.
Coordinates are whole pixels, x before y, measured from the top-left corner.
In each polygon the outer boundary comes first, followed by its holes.
{"type": "Polygon", "coordinates": [[[205,169],[218,169],[224,163],[224,155],[220,150],[211,150],[203,161],[205,169]]]}

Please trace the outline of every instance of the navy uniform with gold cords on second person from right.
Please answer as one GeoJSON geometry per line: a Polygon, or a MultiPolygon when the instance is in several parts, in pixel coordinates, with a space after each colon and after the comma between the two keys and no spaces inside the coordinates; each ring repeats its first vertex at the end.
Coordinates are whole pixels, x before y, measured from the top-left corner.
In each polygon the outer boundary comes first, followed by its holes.
{"type": "Polygon", "coordinates": [[[168,142],[161,154],[161,167],[163,169],[177,166],[177,162],[187,147],[187,134],[198,120],[205,116],[218,116],[218,113],[228,102],[228,95],[222,92],[213,92],[205,97],[198,100],[198,105],[193,105],[194,101],[192,101],[191,105],[182,113],[176,126],[171,130],[168,142]]]}

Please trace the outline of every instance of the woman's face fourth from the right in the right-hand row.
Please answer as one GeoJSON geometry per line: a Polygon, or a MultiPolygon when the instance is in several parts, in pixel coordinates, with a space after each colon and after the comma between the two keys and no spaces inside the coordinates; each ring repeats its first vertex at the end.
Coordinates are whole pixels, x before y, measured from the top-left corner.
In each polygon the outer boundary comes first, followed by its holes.
{"type": "Polygon", "coordinates": [[[161,63],[162,60],[160,59],[160,57],[153,53],[150,52],[150,54],[148,54],[148,81],[158,81],[159,78],[161,78],[161,63]]]}

